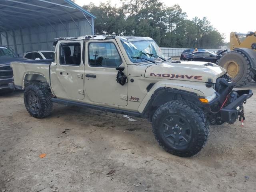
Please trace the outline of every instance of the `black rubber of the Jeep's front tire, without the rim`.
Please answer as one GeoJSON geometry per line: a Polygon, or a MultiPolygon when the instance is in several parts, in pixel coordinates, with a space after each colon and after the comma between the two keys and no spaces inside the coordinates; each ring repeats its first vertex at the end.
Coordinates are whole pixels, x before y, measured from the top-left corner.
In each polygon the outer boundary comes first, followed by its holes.
{"type": "Polygon", "coordinates": [[[159,145],[167,152],[180,157],[190,157],[200,152],[210,136],[209,123],[203,111],[194,104],[183,100],[170,101],[160,106],[153,115],[152,128],[159,145]],[[191,138],[184,146],[173,145],[164,138],[162,133],[164,118],[172,114],[181,116],[191,125],[191,138]]]}

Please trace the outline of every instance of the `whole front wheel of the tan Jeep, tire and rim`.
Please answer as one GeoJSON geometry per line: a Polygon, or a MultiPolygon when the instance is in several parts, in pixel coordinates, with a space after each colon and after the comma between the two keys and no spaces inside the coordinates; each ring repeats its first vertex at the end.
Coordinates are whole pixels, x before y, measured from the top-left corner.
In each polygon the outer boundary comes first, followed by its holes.
{"type": "Polygon", "coordinates": [[[160,106],[152,120],[153,133],[167,152],[190,157],[205,146],[210,135],[203,111],[194,104],[174,100],[160,106]]]}

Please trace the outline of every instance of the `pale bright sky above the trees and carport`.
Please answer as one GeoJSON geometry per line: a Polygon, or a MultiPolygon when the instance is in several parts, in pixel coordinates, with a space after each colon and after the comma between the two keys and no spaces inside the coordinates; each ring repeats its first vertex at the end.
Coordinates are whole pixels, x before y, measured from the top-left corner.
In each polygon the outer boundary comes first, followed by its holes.
{"type": "MultiPolygon", "coordinates": [[[[256,1],[238,1],[238,0],[160,0],[166,6],[179,4],[183,12],[187,13],[188,19],[195,16],[203,18],[204,16],[211,22],[221,34],[225,35],[225,41],[229,42],[230,32],[247,33],[256,31],[255,7],[256,1]]],[[[102,0],[76,0],[76,4],[83,6],[93,2],[99,5],[102,0]]],[[[110,0],[112,5],[121,6],[118,0],[110,0]]]]}

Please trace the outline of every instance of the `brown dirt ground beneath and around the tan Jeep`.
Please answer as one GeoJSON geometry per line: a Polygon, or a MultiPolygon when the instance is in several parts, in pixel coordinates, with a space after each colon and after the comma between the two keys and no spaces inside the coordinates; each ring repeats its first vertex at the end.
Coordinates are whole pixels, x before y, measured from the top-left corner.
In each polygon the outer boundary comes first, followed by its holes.
{"type": "MultiPolygon", "coordinates": [[[[255,82],[244,88],[256,93],[255,82]]],[[[253,96],[244,127],[211,126],[206,147],[180,158],[158,146],[144,119],[58,104],[51,116],[36,119],[23,92],[3,94],[0,192],[254,192],[255,106],[253,96]]]]}

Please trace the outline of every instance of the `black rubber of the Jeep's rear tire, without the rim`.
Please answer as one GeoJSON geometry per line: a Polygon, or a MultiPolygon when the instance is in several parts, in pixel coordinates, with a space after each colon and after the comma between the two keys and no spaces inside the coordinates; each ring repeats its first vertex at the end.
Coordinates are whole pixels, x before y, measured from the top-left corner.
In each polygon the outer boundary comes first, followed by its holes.
{"type": "Polygon", "coordinates": [[[34,118],[44,118],[52,112],[51,90],[48,84],[30,84],[25,88],[24,104],[28,113],[34,118]],[[34,93],[40,102],[38,112],[33,111],[28,104],[28,95],[34,93]]]}

